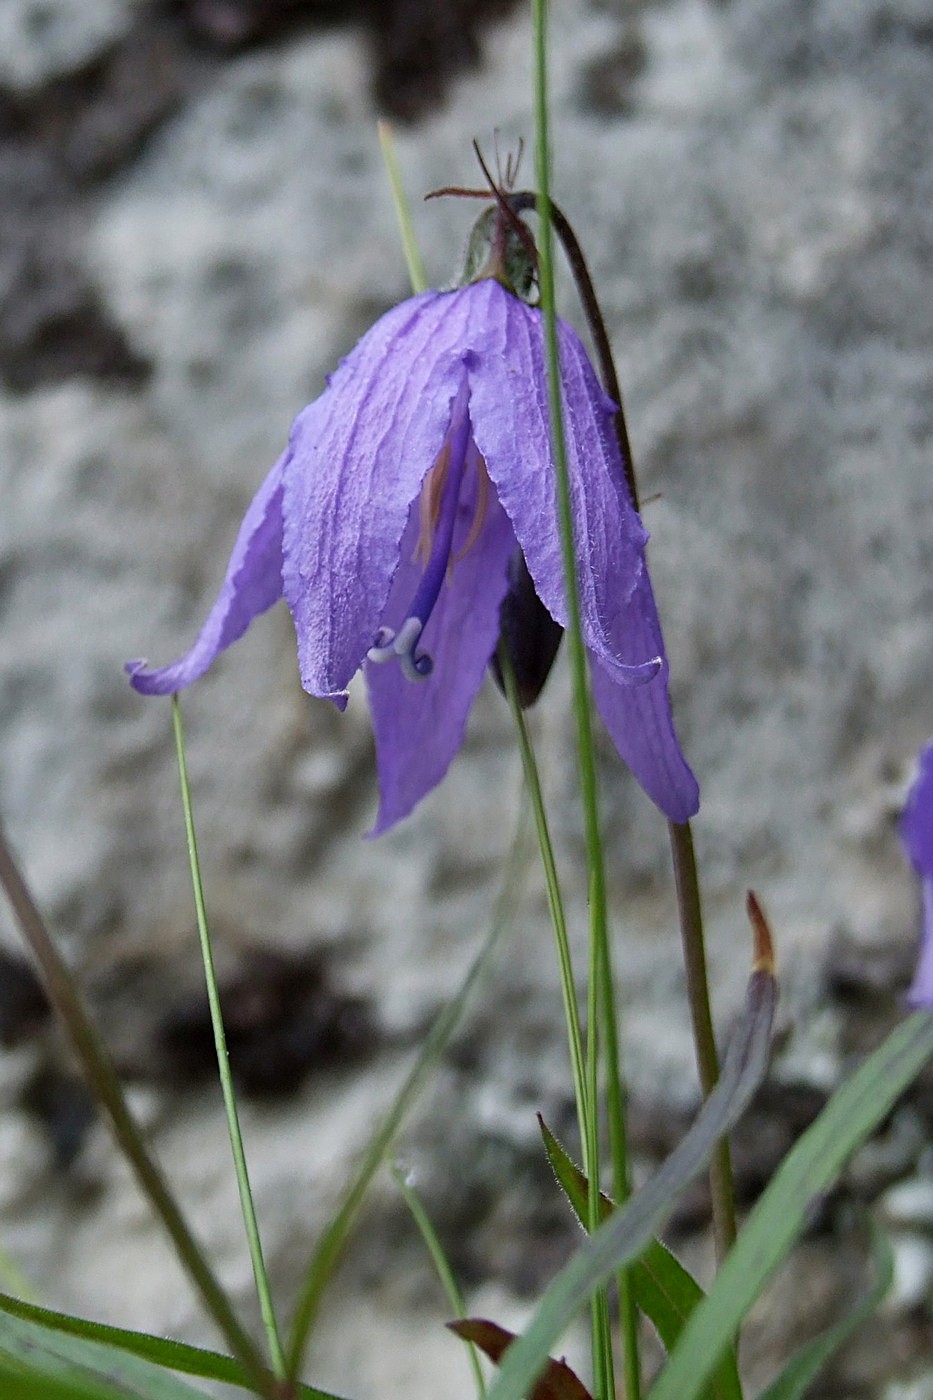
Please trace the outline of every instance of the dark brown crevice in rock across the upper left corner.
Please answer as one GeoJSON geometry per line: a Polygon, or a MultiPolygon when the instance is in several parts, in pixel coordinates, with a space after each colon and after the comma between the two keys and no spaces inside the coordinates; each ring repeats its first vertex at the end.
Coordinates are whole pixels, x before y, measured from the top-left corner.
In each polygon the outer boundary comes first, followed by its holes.
{"type": "Polygon", "coordinates": [[[153,0],[115,43],[31,91],[0,88],[0,381],[17,392],[88,375],[137,385],[151,365],[81,259],[90,199],[223,69],[300,28],[368,35],[374,104],[413,120],[482,56],[514,0],[153,0]]]}

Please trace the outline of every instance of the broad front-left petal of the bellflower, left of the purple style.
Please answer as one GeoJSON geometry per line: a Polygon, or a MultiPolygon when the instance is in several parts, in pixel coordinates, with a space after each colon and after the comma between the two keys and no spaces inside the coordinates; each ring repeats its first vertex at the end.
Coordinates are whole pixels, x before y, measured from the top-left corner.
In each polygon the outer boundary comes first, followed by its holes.
{"type": "Polygon", "coordinates": [[[311,694],[345,694],[385,610],[464,384],[457,295],[423,293],[382,316],[291,430],[283,577],[311,694]]]}

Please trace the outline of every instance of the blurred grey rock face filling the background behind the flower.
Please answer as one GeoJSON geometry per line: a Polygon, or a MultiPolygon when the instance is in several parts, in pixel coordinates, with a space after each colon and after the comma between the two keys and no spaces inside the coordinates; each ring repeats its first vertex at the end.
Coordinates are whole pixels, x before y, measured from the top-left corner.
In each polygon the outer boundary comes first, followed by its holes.
{"type": "MultiPolygon", "coordinates": [[[[0,809],[133,1102],[252,1308],[210,1077],[167,703],[127,657],[188,645],[294,413],[408,293],[377,113],[431,279],[475,183],[531,129],[506,0],[3,0],[0,809]]],[[[918,895],[897,840],[933,732],[933,18],[926,0],[562,0],[555,190],[611,323],[696,822],[717,1022],[747,886],[779,939],[772,1081],[742,1200],[901,1015],[918,895]]],[[[525,178],[531,182],[530,162],[525,178]]],[[[579,319],[569,283],[567,315],[579,319]]],[[[447,781],[374,815],[361,694],[300,689],[284,608],[185,699],[210,907],[279,1296],[489,925],[518,764],[489,687],[447,781]]],[[[566,678],[535,732],[580,948],[566,678]]],[[[696,1103],[665,829],[602,746],[640,1169],[696,1103]]],[[[52,1306],[214,1343],[95,1121],[0,911],[0,1242],[52,1306]]],[[[495,973],[399,1151],[475,1312],[520,1322],[576,1232],[534,1113],[570,1134],[535,861],[495,973]]],[[[884,1310],[814,1394],[929,1400],[933,1081],[918,1085],[752,1319],[749,1373],[859,1288],[853,1210],[892,1231],[884,1310]]],[[[700,1271],[706,1205],[672,1240],[700,1271]]],[[[367,1400],[468,1393],[381,1179],[308,1376],[367,1400]]]]}

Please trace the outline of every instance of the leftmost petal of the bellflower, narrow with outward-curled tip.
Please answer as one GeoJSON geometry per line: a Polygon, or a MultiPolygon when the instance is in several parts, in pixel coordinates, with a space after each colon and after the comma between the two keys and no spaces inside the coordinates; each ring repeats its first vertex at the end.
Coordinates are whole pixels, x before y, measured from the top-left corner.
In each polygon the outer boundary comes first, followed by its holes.
{"type": "Polygon", "coordinates": [[[217,602],[191,651],[168,666],[150,671],[127,661],[130,685],[141,694],[165,696],[203,676],[214,658],[242,637],[254,617],[282,598],[282,454],[247,511],[217,602]]]}

